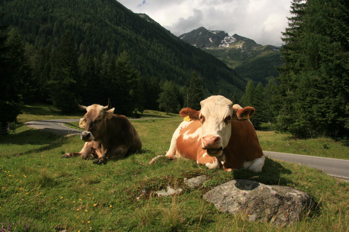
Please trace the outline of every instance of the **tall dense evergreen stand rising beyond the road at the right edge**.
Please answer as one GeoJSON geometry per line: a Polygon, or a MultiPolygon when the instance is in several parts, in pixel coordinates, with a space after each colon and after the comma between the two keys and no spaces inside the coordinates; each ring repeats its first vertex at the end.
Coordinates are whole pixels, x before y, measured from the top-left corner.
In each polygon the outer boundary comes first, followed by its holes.
{"type": "Polygon", "coordinates": [[[349,134],[348,5],[344,0],[308,0],[300,5],[298,11],[291,11],[296,20],[290,20],[284,33],[278,128],[302,138],[345,138],[349,134]]]}

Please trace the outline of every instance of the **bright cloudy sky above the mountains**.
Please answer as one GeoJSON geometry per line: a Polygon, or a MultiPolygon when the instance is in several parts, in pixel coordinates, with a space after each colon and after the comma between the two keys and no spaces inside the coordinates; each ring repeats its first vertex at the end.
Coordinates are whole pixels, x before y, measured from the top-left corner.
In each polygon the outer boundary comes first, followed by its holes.
{"type": "Polygon", "coordinates": [[[291,0],[118,0],[179,36],[201,26],[280,46],[291,0]]]}

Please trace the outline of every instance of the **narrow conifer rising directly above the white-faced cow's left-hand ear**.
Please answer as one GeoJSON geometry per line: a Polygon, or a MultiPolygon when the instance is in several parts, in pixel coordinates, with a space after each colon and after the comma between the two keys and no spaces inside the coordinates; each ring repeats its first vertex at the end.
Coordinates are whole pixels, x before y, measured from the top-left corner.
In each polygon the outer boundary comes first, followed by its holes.
{"type": "Polygon", "coordinates": [[[187,94],[188,107],[199,110],[201,108],[200,101],[203,100],[203,89],[196,72],[193,72],[193,74],[191,75],[187,94]]]}

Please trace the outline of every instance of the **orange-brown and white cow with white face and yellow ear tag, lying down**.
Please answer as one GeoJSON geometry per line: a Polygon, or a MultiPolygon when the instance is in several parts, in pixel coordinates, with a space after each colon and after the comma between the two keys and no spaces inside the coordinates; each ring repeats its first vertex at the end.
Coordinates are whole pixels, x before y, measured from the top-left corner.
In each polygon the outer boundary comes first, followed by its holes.
{"type": "Polygon", "coordinates": [[[200,104],[200,111],[184,108],[179,112],[187,120],[175,130],[166,157],[185,157],[210,169],[222,165],[226,171],[245,168],[260,172],[265,157],[249,120],[255,109],[233,106],[223,96],[208,97],[200,104]]]}

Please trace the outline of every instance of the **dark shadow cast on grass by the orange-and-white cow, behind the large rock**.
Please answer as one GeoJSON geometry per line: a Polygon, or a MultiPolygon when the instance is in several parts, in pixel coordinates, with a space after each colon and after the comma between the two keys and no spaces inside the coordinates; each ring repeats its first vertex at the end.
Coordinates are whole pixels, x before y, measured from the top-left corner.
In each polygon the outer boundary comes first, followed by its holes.
{"type": "Polygon", "coordinates": [[[249,170],[234,170],[234,179],[249,179],[269,185],[287,185],[292,181],[281,177],[282,174],[291,174],[292,171],[283,167],[279,162],[268,157],[265,158],[264,166],[261,172],[255,173],[249,170]]]}

